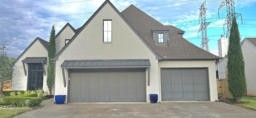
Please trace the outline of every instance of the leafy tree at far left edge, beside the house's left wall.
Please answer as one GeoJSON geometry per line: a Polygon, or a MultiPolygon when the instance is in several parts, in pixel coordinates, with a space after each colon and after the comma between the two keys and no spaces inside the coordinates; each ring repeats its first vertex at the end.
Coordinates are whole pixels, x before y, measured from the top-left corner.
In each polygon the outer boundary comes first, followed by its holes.
{"type": "Polygon", "coordinates": [[[3,89],[10,88],[8,84],[12,83],[12,77],[14,75],[14,69],[10,65],[15,61],[15,58],[11,57],[9,59],[7,56],[10,50],[6,49],[8,45],[6,42],[4,41],[4,44],[1,44],[0,47],[0,94],[2,94],[3,89]]]}

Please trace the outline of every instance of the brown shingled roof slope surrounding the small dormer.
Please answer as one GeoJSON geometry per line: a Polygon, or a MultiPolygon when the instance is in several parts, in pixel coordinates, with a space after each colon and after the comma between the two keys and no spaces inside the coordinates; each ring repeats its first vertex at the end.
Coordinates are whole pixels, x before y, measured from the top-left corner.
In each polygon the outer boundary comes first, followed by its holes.
{"type": "MultiPolygon", "coordinates": [[[[130,5],[121,14],[146,42],[164,59],[221,59],[212,53],[204,51],[177,34],[182,32],[174,26],[164,26],[134,5],[130,5]],[[153,39],[153,29],[168,29],[168,45],[156,45],[153,39]]],[[[184,31],[183,31],[184,32],[184,31]]]]}

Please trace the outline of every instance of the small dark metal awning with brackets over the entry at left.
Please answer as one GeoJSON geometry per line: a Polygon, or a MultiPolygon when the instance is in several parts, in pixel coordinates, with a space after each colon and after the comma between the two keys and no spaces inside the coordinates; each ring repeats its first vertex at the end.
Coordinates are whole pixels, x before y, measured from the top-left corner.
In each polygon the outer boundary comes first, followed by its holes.
{"type": "MultiPolygon", "coordinates": [[[[47,62],[47,57],[26,57],[22,61],[23,64],[23,69],[25,76],[27,76],[26,68],[24,63],[42,63],[43,69],[44,69],[44,64],[47,62]]],[[[46,75],[46,71],[44,69],[44,76],[46,75]]]]}

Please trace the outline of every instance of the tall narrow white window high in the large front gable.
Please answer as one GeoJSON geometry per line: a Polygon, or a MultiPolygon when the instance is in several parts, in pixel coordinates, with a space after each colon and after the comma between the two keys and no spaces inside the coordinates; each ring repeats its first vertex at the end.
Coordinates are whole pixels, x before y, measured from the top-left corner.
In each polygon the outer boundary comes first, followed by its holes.
{"type": "Polygon", "coordinates": [[[103,42],[112,42],[112,20],[103,20],[103,42]]]}

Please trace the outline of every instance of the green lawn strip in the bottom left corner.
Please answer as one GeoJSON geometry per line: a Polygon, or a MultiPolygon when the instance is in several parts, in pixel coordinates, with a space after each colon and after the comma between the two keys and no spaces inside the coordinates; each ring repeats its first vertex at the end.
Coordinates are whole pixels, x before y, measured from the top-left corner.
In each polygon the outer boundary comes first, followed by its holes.
{"type": "Polygon", "coordinates": [[[0,109],[0,118],[12,118],[14,116],[31,110],[31,108],[0,109]]]}

